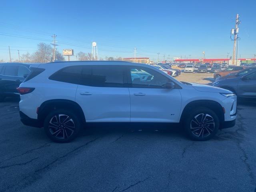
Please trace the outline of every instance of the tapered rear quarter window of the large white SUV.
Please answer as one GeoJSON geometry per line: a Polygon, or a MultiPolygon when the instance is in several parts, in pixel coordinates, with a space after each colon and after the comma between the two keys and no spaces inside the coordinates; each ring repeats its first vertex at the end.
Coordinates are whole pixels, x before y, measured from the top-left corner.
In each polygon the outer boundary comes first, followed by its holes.
{"type": "Polygon", "coordinates": [[[83,84],[82,82],[83,66],[69,66],[65,67],[56,73],[52,74],[49,79],[72,84],[83,84]]]}

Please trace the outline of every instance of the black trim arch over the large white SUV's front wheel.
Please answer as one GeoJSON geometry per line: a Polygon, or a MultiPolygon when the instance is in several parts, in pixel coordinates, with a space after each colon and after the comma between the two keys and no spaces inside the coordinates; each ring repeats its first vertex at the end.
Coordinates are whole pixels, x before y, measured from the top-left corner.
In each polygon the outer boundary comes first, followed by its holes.
{"type": "Polygon", "coordinates": [[[198,106],[213,110],[218,116],[220,122],[224,121],[224,111],[220,103],[212,100],[195,100],[186,104],[180,116],[180,122],[183,122],[189,112],[198,106]]]}

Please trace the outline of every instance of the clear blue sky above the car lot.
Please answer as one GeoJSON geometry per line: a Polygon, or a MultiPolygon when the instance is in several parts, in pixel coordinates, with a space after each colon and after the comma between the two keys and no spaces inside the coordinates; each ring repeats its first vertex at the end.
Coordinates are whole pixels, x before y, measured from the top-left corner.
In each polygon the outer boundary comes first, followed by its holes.
{"type": "MultiPolygon", "coordinates": [[[[42,38],[32,40],[0,35],[0,59],[36,50],[56,34],[58,50],[91,52],[98,44],[99,57],[137,56],[226,58],[232,54],[230,29],[240,14],[239,53],[256,54],[256,1],[237,0],[9,0],[1,2],[0,34],[42,38]],[[63,42],[71,45],[65,45],[63,42]],[[28,50],[28,51],[27,51],[28,50]]],[[[49,41],[48,41],[49,40],[49,41]]],[[[75,58],[73,58],[75,59],[75,58]]]]}

